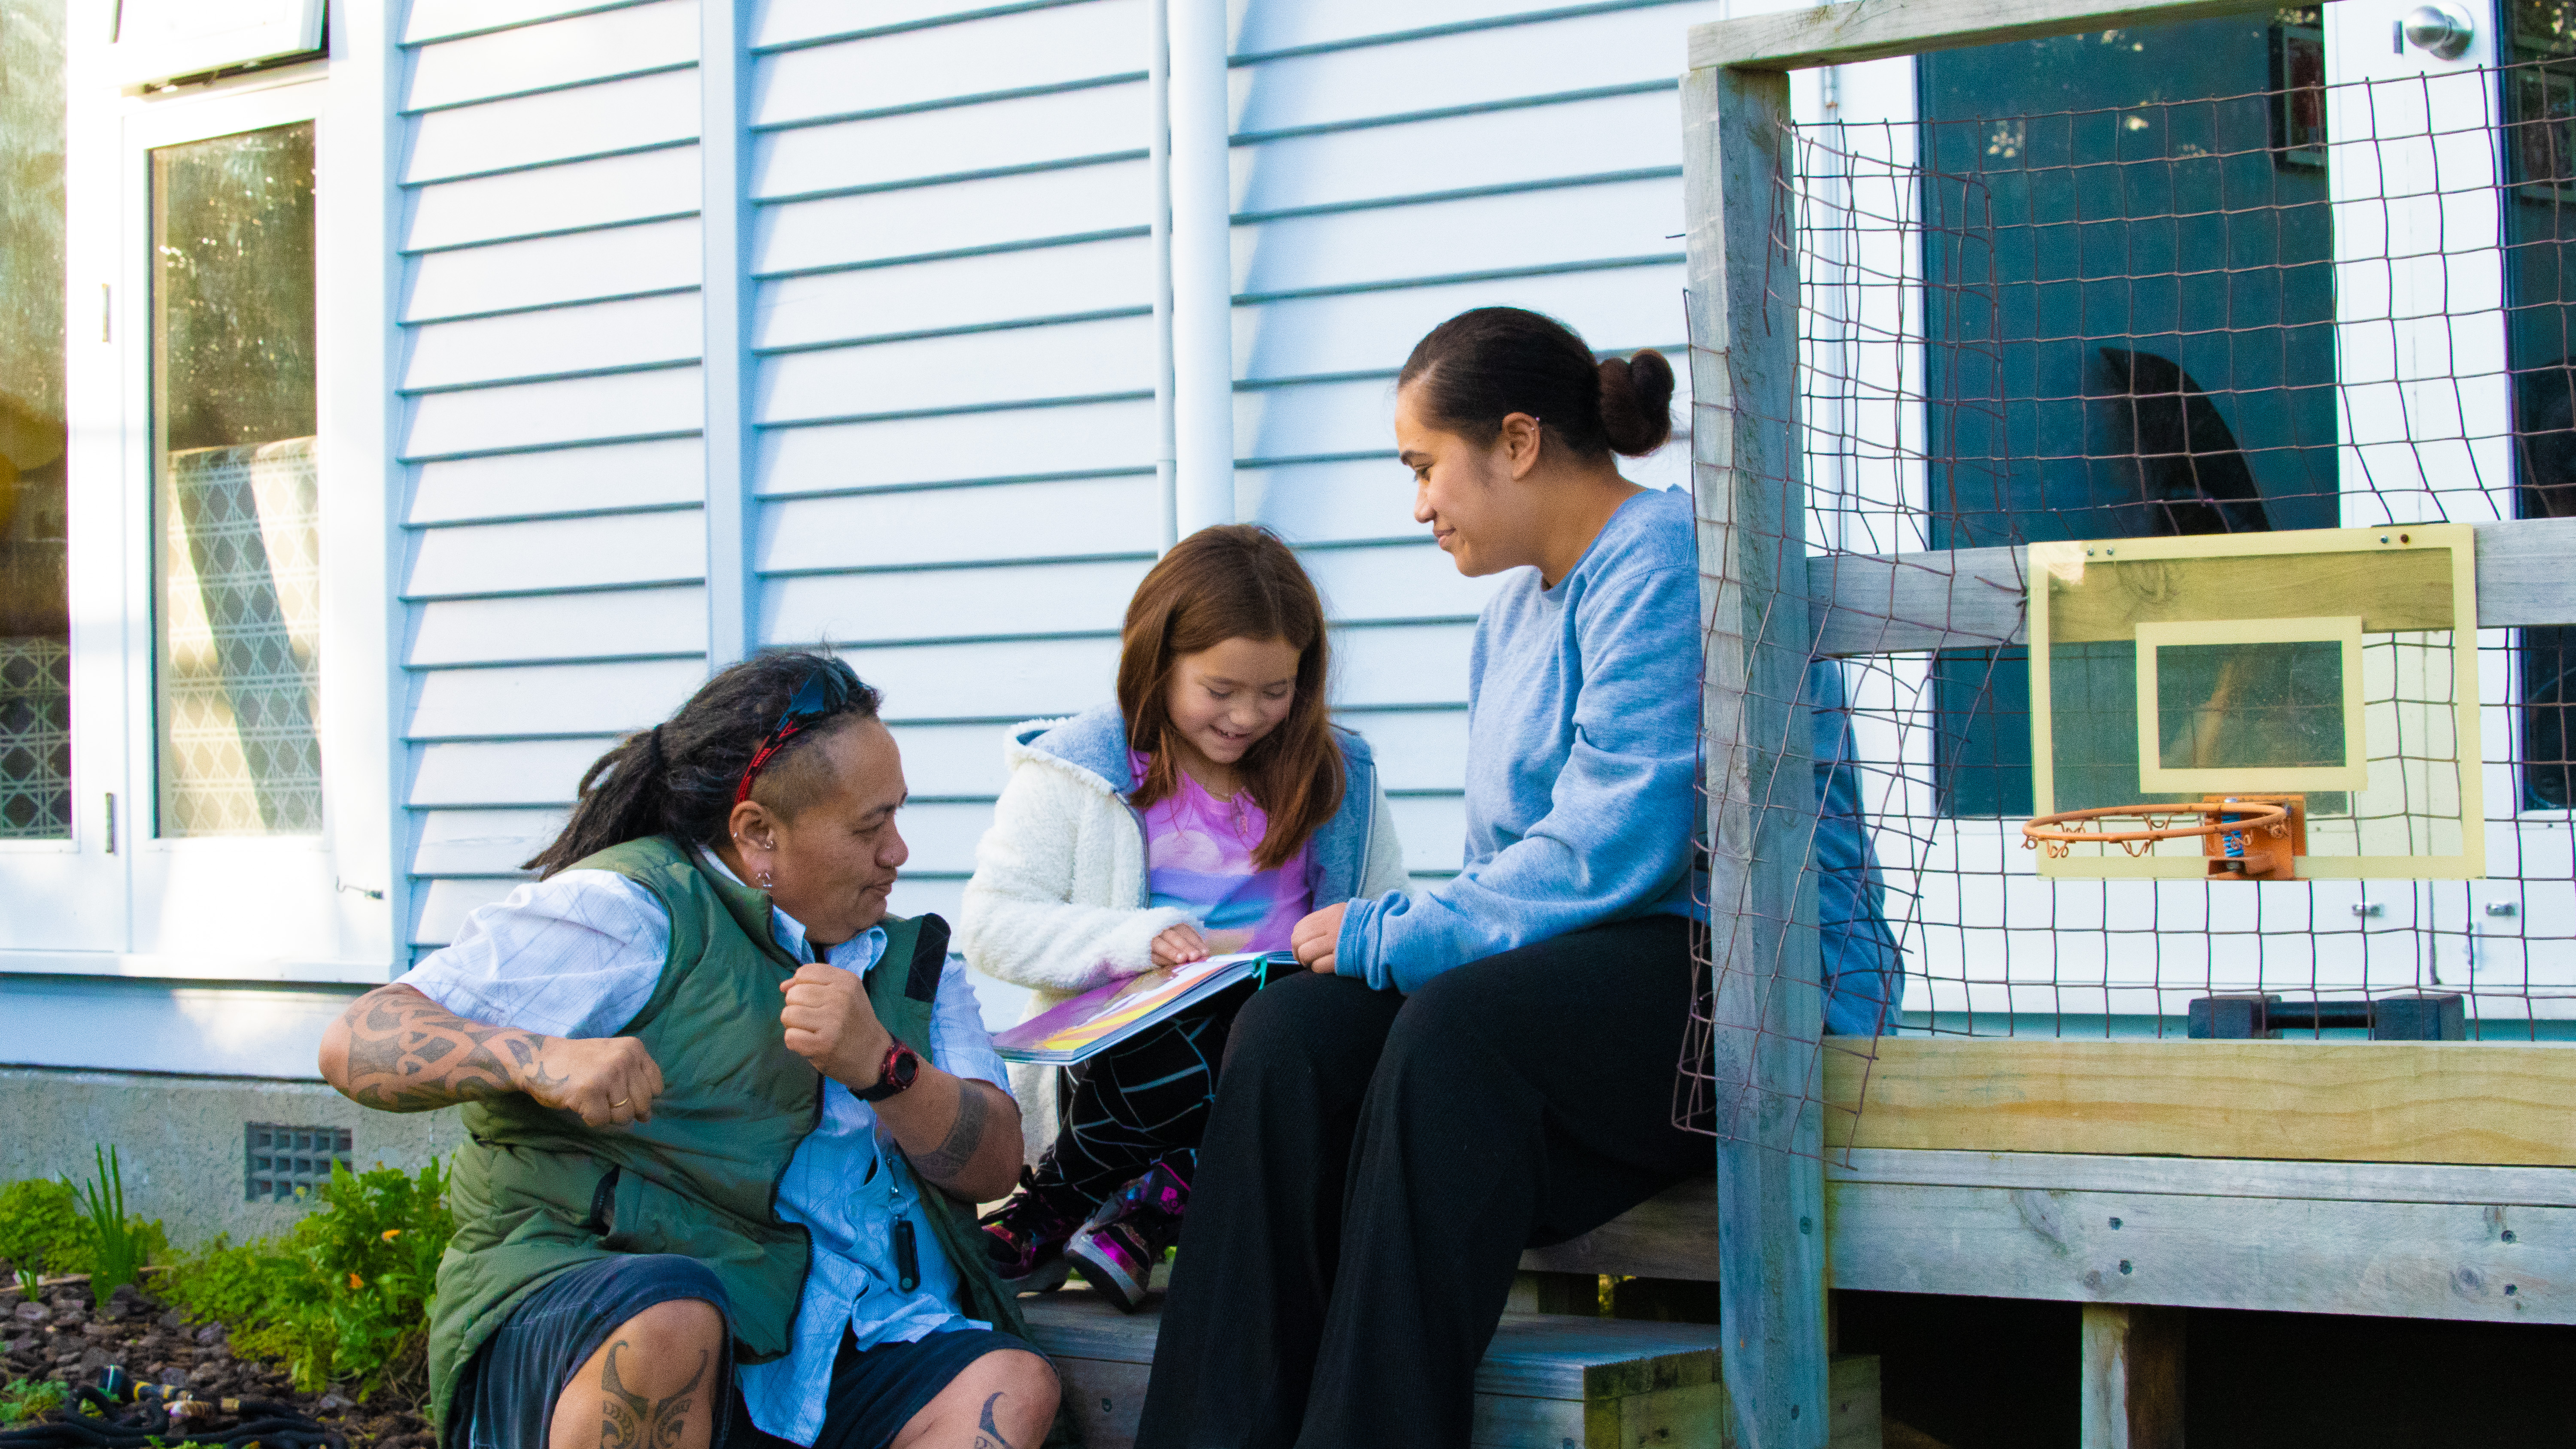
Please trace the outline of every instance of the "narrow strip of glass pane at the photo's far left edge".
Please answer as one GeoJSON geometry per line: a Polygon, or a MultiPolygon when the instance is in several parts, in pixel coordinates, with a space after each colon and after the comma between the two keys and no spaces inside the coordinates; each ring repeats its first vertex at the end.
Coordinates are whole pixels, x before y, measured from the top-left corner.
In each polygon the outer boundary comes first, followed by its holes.
{"type": "Polygon", "coordinates": [[[62,0],[0,0],[0,836],[72,834],[62,0]]]}

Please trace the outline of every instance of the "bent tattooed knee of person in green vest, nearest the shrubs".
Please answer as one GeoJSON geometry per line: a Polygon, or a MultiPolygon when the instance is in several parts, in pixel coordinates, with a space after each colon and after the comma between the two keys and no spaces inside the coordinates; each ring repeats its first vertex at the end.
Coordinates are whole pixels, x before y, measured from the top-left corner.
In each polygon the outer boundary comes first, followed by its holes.
{"type": "Polygon", "coordinates": [[[711,1449],[724,1315],[683,1297],[618,1323],[554,1400],[546,1449],[711,1449]]]}

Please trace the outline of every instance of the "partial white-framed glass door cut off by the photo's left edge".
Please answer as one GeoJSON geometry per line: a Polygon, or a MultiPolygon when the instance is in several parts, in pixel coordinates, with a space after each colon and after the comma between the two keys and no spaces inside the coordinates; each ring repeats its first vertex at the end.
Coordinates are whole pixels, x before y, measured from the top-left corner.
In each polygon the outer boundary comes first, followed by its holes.
{"type": "Polygon", "coordinates": [[[0,952],[10,955],[121,950],[126,929],[116,631],[72,592],[95,587],[77,577],[75,535],[113,543],[93,504],[113,497],[116,471],[113,450],[75,448],[64,121],[64,0],[0,0],[0,952]]]}

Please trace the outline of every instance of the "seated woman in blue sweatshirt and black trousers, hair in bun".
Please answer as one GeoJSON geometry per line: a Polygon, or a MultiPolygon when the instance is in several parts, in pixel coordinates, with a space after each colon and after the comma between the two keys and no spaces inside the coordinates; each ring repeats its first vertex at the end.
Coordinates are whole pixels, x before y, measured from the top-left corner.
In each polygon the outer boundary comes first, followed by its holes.
{"type": "MultiPolygon", "coordinates": [[[[1414,520],[1461,574],[1510,571],[1468,664],[1466,862],[1306,916],[1311,973],[1236,1019],[1139,1446],[1466,1446],[1520,1251],[1708,1171],[1674,1125],[1705,932],[1700,564],[1690,497],[1615,458],[1659,448],[1669,404],[1659,353],[1595,363],[1507,306],[1404,363],[1414,520]]],[[[1883,970],[1857,860],[1842,914],[1883,970]]],[[[1855,975],[1868,1029],[1888,988],[1855,975]]]]}

